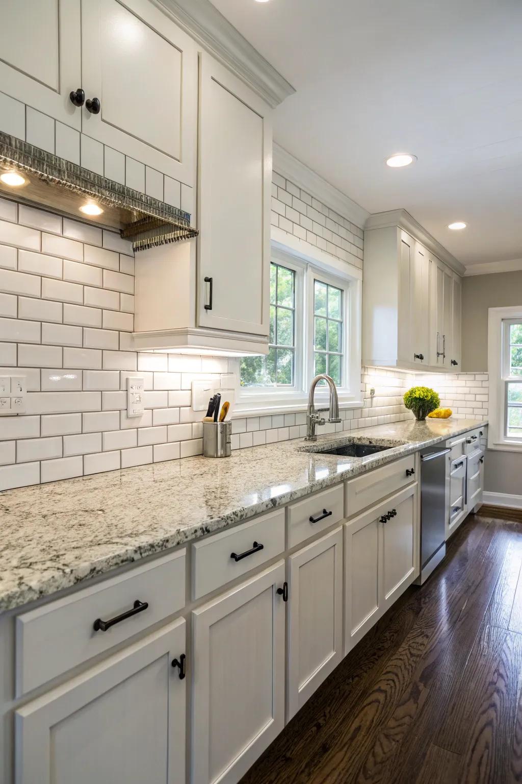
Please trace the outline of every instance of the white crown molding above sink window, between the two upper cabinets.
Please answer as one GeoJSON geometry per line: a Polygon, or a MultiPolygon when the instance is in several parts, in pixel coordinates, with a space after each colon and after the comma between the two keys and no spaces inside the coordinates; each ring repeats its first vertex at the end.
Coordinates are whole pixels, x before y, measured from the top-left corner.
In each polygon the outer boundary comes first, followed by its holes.
{"type": "Polygon", "coordinates": [[[290,180],[294,185],[303,188],[308,194],[318,201],[322,201],[322,204],[350,220],[351,223],[355,223],[355,226],[362,228],[365,225],[369,212],[355,201],[337,191],[336,187],[327,183],[312,169],[308,169],[307,165],[298,161],[297,158],[294,158],[293,155],[283,150],[283,147],[279,147],[279,144],[275,142],[272,154],[272,168],[275,172],[285,177],[286,180],[290,180]]]}

